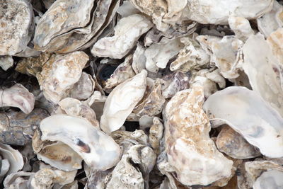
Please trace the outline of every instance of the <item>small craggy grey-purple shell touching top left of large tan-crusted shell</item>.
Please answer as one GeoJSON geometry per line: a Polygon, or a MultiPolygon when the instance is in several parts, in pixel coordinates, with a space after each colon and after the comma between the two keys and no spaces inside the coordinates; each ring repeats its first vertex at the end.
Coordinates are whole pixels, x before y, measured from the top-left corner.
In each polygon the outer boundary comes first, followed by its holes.
{"type": "Polygon", "coordinates": [[[189,88],[189,75],[181,72],[168,74],[163,76],[161,84],[162,96],[164,98],[171,98],[178,91],[189,88]]]}

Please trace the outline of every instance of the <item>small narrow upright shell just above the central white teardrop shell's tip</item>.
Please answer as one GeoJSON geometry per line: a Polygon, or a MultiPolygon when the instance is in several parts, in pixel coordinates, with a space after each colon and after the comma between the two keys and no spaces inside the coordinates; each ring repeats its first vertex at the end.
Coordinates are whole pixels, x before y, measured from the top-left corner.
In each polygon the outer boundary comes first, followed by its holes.
{"type": "Polygon", "coordinates": [[[139,74],[141,70],[146,69],[146,56],[144,55],[145,50],[146,48],[137,42],[137,48],[132,57],[132,69],[136,74],[139,74]]]}

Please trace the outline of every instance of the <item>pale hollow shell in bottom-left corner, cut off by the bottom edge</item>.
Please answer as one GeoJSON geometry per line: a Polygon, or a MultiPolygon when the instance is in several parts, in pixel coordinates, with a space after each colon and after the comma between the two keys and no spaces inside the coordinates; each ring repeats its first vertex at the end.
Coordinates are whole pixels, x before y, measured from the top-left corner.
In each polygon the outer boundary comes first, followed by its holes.
{"type": "Polygon", "coordinates": [[[11,173],[6,176],[4,180],[5,188],[21,188],[28,189],[29,178],[33,176],[35,173],[19,171],[16,173],[11,173]]]}

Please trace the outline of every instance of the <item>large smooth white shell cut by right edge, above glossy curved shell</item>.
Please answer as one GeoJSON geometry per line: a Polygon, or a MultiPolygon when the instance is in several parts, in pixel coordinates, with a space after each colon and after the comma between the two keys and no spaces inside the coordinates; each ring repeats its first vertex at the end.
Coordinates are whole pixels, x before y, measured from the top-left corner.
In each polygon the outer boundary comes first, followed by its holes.
{"type": "Polygon", "coordinates": [[[248,75],[253,91],[283,115],[281,63],[272,54],[263,35],[252,35],[243,45],[243,70],[248,75]],[[267,92],[268,91],[268,92],[267,92]]]}

